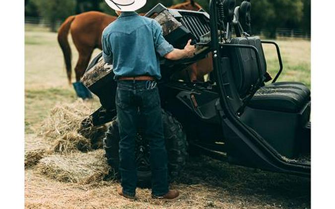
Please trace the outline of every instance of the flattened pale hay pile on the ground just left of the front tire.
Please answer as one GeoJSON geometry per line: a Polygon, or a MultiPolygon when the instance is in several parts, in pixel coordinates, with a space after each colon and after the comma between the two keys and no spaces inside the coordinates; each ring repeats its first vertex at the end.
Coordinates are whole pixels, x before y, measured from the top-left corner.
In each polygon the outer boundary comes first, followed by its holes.
{"type": "Polygon", "coordinates": [[[69,155],[48,155],[40,160],[36,172],[57,181],[90,184],[102,181],[108,173],[103,150],[69,155]]]}

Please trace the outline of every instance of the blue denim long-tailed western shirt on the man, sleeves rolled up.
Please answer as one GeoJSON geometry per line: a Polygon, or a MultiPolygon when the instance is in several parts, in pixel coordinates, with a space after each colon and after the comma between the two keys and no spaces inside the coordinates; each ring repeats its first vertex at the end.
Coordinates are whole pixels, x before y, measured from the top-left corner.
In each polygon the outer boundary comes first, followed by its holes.
{"type": "Polygon", "coordinates": [[[150,75],[161,78],[159,55],[173,50],[163,37],[159,23],[136,12],[122,12],[102,33],[105,62],[120,76],[150,75]],[[112,55],[113,54],[113,55],[112,55]]]}

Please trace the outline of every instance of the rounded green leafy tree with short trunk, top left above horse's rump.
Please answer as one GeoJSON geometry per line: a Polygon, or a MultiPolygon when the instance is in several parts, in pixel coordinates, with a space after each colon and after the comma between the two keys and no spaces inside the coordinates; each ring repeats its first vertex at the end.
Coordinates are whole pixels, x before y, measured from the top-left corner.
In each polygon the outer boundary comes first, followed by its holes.
{"type": "Polygon", "coordinates": [[[31,0],[42,17],[49,20],[50,29],[56,32],[56,22],[74,14],[75,0],[31,0]]]}

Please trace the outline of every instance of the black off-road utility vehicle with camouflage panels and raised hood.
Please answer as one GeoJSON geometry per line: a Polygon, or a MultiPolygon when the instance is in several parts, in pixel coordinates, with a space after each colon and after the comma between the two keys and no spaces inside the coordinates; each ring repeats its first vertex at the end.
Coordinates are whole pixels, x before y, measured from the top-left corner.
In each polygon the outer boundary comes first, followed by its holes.
{"type": "MultiPolygon", "coordinates": [[[[158,81],[164,134],[172,181],[188,154],[207,155],[229,163],[310,177],[310,90],[302,83],[276,82],[283,70],[275,42],[250,36],[250,0],[210,0],[204,10],[167,9],[157,4],[146,16],[155,18],[175,48],[190,38],[198,52],[192,59],[161,59],[158,81]],[[278,73],[267,73],[264,44],[278,54],[278,73]],[[211,54],[213,71],[205,82],[171,79],[174,73],[211,54]],[[269,81],[271,80],[271,81],[269,81]]],[[[82,82],[102,106],[83,121],[111,122],[104,139],[108,163],[118,173],[118,119],[113,66],[101,53],[88,66],[82,82]]],[[[138,116],[140,120],[140,115],[138,116]]],[[[138,185],[150,185],[149,146],[138,127],[136,161],[138,185]]],[[[192,156],[190,155],[190,156],[192,156]]]]}

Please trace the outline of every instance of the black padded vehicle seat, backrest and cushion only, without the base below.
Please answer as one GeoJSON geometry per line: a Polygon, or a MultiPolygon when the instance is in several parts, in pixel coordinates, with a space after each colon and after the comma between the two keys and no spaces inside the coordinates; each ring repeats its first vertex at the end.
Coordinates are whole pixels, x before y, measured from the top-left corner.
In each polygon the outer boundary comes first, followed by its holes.
{"type": "MultiPolygon", "coordinates": [[[[232,44],[251,45],[256,47],[260,55],[261,71],[263,81],[267,72],[266,59],[259,37],[238,37],[231,41],[232,44]]],[[[256,54],[250,49],[234,48],[230,51],[233,77],[237,91],[241,99],[244,99],[250,92],[259,78],[256,54]]],[[[265,85],[263,83],[248,106],[260,109],[297,112],[304,104],[310,101],[310,90],[299,82],[276,82],[265,85]]]]}

